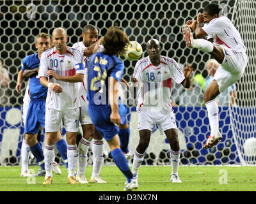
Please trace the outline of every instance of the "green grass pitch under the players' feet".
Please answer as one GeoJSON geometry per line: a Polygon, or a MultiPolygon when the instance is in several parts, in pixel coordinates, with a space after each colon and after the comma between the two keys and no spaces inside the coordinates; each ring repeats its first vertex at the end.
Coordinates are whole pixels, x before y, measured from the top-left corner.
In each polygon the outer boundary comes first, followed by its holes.
{"type": "MultiPolygon", "coordinates": [[[[107,184],[67,184],[67,170],[53,175],[51,185],[44,177],[20,177],[20,166],[0,166],[0,191],[123,191],[125,177],[116,166],[102,166],[107,184]],[[33,180],[34,179],[34,180],[33,180]],[[29,184],[30,183],[30,184],[29,184]]],[[[35,172],[39,166],[29,166],[35,172]]],[[[171,166],[141,166],[137,191],[256,191],[256,166],[180,166],[181,184],[170,182],[171,166]]],[[[90,180],[92,166],[86,168],[90,180]]]]}

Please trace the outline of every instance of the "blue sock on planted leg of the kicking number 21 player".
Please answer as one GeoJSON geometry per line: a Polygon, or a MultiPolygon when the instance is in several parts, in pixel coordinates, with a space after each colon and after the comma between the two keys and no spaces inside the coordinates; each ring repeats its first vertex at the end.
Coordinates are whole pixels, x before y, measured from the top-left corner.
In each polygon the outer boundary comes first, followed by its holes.
{"type": "Polygon", "coordinates": [[[132,171],[130,170],[127,159],[125,158],[121,149],[115,149],[111,152],[111,156],[113,157],[116,166],[122,171],[122,173],[127,178],[128,182],[131,182],[134,179],[132,175],[132,171]]]}

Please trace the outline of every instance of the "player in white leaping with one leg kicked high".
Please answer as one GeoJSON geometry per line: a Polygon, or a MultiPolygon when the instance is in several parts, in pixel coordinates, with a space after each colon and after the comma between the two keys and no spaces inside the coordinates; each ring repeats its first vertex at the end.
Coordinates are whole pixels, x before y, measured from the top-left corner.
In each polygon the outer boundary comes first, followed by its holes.
{"type": "Polygon", "coordinates": [[[211,135],[205,142],[204,149],[216,145],[222,139],[219,131],[216,96],[243,76],[248,62],[246,47],[241,35],[227,17],[219,16],[220,11],[217,4],[208,4],[205,6],[203,14],[198,13],[196,20],[188,20],[182,26],[182,33],[188,47],[207,52],[220,63],[204,94],[211,127],[211,135]],[[203,26],[204,22],[206,24],[203,26]],[[191,29],[195,31],[195,36],[198,39],[193,38],[191,29]]]}

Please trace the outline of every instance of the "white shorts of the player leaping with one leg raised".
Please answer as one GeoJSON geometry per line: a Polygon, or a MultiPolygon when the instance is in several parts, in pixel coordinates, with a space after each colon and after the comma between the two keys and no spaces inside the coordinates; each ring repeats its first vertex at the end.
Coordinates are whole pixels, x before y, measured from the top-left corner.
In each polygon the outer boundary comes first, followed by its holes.
{"type": "Polygon", "coordinates": [[[248,62],[246,54],[234,52],[230,48],[221,45],[225,54],[223,63],[217,69],[213,80],[219,85],[220,93],[227,87],[236,83],[244,74],[244,69],[248,62]]]}

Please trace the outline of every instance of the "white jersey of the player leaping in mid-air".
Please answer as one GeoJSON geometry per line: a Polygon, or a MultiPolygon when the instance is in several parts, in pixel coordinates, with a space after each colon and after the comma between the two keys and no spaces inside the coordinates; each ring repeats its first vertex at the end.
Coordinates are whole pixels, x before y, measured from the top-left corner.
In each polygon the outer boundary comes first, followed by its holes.
{"type": "Polygon", "coordinates": [[[225,45],[236,52],[243,52],[245,54],[246,47],[244,46],[241,35],[229,18],[214,18],[209,24],[205,24],[202,29],[208,35],[213,36],[214,43],[225,45]]]}

